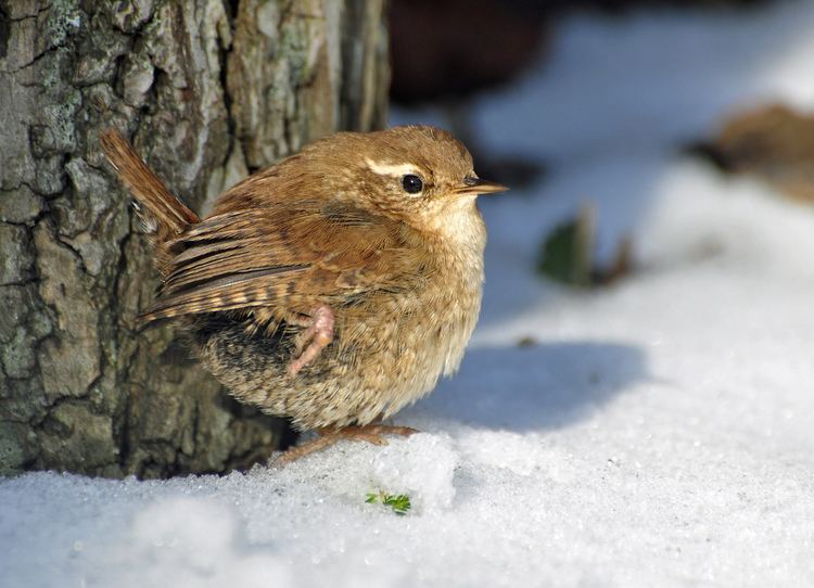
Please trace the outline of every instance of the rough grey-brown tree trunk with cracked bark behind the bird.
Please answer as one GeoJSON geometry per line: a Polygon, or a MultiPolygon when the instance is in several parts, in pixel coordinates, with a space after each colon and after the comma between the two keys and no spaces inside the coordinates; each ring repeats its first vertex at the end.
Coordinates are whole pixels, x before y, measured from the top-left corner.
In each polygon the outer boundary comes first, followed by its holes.
{"type": "Polygon", "coordinates": [[[103,162],[115,126],[192,208],[335,129],[383,124],[382,1],[0,0],[0,472],[144,477],[263,459],[169,327],[103,162]]]}

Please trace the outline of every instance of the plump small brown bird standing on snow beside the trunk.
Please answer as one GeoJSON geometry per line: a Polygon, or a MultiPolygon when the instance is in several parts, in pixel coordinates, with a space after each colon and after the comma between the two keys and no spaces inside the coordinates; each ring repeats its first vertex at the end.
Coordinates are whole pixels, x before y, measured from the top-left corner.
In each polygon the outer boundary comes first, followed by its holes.
{"type": "Polygon", "coordinates": [[[481,305],[481,180],[443,130],[340,132],[246,178],[200,219],[116,131],[102,148],[153,229],[158,295],[239,400],[316,430],[294,459],[372,424],[456,371],[481,305]]]}

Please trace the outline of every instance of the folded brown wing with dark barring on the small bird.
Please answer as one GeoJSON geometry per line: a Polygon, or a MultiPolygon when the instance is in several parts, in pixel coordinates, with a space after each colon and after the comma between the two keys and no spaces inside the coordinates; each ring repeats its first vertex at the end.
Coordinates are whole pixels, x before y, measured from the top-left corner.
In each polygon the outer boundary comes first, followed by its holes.
{"type": "Polygon", "coordinates": [[[144,321],[257,307],[277,308],[281,318],[308,314],[415,283],[419,271],[399,223],[330,203],[219,214],[170,251],[170,271],[144,321]]]}

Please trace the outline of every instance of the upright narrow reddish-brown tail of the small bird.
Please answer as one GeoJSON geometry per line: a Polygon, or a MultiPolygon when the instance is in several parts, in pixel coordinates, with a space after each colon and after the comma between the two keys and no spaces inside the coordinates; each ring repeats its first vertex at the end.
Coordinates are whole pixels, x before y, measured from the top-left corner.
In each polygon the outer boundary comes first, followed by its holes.
{"type": "Polygon", "coordinates": [[[164,242],[173,239],[190,225],[199,222],[199,216],[175,197],[164,182],[139,157],[130,143],[114,129],[99,136],[107,161],[118,178],[145,209],[140,209],[145,222],[156,223],[155,239],[164,242]]]}

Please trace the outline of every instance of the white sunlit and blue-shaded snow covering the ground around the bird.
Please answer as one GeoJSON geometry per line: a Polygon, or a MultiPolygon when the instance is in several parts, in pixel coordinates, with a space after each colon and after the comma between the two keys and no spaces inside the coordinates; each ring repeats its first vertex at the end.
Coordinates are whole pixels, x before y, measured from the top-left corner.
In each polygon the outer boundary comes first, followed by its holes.
{"type": "Polygon", "coordinates": [[[814,585],[814,209],[678,150],[748,105],[814,107],[812,29],[810,2],[565,21],[475,110],[551,174],[484,199],[461,372],[396,418],[423,433],[224,477],[0,481],[0,586],[814,585]],[[592,293],[531,271],[583,201],[639,266],[592,293]]]}

